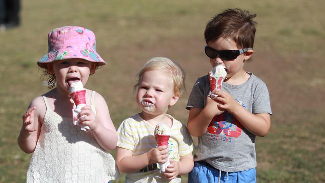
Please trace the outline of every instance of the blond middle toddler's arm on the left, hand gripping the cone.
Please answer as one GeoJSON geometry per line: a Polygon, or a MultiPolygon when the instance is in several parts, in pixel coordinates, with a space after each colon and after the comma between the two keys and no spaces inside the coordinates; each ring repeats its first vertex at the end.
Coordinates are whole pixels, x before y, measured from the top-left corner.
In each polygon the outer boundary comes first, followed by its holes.
{"type": "Polygon", "coordinates": [[[124,173],[132,173],[152,163],[167,162],[168,146],[159,146],[141,155],[132,156],[133,151],[125,148],[116,148],[116,164],[124,173]]]}

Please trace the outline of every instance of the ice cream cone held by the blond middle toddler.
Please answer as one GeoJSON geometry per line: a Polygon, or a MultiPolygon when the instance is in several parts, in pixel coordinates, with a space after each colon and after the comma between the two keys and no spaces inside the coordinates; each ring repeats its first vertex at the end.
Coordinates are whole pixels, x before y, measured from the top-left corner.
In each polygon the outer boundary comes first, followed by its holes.
{"type": "MultiPolygon", "coordinates": [[[[156,125],[154,129],[154,137],[158,143],[158,146],[167,145],[170,138],[171,132],[170,128],[164,123],[159,123],[156,125]]],[[[167,166],[170,164],[169,157],[167,158],[167,162],[159,163],[160,172],[165,172],[167,166]]]]}

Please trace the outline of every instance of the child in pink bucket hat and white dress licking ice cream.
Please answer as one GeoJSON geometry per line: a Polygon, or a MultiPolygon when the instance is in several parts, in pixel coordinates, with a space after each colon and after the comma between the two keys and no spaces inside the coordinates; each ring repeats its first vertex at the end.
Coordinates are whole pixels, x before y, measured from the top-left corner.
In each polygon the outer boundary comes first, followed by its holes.
{"type": "Polygon", "coordinates": [[[27,182],[108,182],[119,177],[113,157],[117,132],[104,98],[86,89],[86,103],[78,114],[82,131],[73,124],[71,83],[87,83],[95,69],[106,64],[96,52],[92,31],[76,26],[52,30],[48,53],[38,62],[49,75],[51,91],[31,101],[22,116],[20,148],[33,153],[27,182]]]}

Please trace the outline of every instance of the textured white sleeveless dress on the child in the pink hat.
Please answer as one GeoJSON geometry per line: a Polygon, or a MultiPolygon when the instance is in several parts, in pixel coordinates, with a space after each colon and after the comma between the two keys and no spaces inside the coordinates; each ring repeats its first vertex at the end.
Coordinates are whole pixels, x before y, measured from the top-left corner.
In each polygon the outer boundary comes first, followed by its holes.
{"type": "Polygon", "coordinates": [[[92,133],[73,125],[72,118],[58,115],[48,107],[45,96],[43,99],[46,113],[27,182],[107,183],[119,178],[114,158],[98,145],[92,133]]]}

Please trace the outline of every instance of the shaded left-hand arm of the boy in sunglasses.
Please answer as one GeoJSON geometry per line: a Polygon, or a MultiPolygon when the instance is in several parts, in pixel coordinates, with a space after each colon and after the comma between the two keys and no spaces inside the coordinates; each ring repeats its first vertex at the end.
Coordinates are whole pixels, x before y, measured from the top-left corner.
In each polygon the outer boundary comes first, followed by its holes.
{"type": "Polygon", "coordinates": [[[191,107],[187,121],[187,128],[192,136],[198,137],[205,134],[207,127],[214,116],[223,113],[218,108],[218,103],[207,96],[206,106],[201,108],[191,107]]]}

